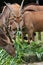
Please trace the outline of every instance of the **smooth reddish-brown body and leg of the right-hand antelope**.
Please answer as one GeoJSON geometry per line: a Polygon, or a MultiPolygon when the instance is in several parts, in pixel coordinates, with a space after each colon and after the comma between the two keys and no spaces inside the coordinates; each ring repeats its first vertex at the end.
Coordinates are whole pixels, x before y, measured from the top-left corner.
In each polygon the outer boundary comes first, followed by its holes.
{"type": "Polygon", "coordinates": [[[43,11],[31,12],[26,11],[23,16],[28,33],[28,41],[33,38],[33,32],[43,31],[43,11]]]}

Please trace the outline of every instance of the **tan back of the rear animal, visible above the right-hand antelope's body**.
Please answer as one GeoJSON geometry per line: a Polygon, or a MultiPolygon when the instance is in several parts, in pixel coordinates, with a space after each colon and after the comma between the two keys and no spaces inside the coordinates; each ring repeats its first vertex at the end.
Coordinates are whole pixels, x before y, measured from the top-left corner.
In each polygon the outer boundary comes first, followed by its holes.
{"type": "Polygon", "coordinates": [[[43,6],[40,5],[27,5],[26,7],[23,7],[23,12],[29,11],[29,10],[34,10],[34,11],[43,11],[43,6]]]}

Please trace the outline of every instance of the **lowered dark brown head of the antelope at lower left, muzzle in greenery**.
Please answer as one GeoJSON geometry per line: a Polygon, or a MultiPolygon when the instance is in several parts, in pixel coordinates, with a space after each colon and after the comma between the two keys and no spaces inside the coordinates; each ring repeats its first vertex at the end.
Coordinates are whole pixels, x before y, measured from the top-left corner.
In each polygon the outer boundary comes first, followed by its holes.
{"type": "Polygon", "coordinates": [[[9,37],[5,32],[0,28],[0,47],[5,49],[10,55],[15,55],[14,44],[10,41],[9,37]],[[4,37],[2,37],[2,35],[4,37]]]}

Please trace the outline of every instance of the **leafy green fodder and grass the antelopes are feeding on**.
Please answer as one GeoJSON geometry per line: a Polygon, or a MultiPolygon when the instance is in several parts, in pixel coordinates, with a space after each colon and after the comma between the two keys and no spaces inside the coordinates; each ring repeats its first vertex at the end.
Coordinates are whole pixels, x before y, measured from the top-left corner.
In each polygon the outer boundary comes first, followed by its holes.
{"type": "Polygon", "coordinates": [[[16,40],[13,40],[16,49],[15,57],[0,48],[0,65],[19,65],[25,62],[34,62],[35,59],[35,61],[43,61],[43,42],[31,42],[29,45],[26,40],[22,41],[20,34],[21,32],[18,31],[16,40]]]}

